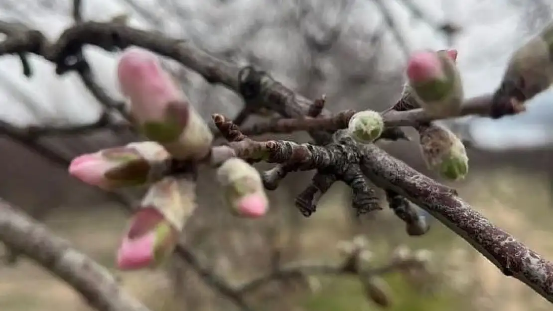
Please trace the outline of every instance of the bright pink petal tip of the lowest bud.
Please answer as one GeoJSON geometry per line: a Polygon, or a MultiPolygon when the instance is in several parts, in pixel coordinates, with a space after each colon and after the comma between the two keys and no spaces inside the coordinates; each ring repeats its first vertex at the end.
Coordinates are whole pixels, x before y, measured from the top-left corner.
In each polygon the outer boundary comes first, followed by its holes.
{"type": "Polygon", "coordinates": [[[117,250],[117,267],[121,270],[137,270],[150,266],[154,260],[155,232],[136,239],[123,239],[117,250]]]}

